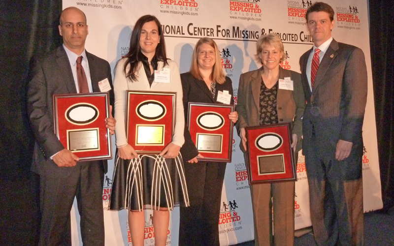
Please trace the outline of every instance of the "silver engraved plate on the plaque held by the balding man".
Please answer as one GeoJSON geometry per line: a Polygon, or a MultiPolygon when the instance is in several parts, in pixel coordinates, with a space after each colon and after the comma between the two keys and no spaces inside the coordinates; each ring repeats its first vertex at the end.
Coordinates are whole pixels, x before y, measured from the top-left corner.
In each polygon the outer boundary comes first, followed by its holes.
{"type": "Polygon", "coordinates": [[[67,130],[68,149],[72,152],[99,150],[99,128],[67,130]]]}

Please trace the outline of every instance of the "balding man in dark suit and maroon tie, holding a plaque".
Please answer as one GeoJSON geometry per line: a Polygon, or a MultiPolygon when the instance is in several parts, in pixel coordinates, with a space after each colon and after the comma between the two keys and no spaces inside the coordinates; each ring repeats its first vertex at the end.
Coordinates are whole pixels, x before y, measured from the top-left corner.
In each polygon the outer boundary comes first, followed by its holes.
{"type": "MultiPolygon", "coordinates": [[[[34,64],[27,94],[28,115],[36,140],[32,171],[40,175],[39,245],[71,245],[70,211],[76,196],[83,244],[103,246],[102,186],[107,162],[78,161],[76,154],[65,149],[54,133],[52,96],[108,90],[99,87],[101,82],[111,88],[113,104],[111,69],[108,62],[85,50],[88,26],[81,10],[75,7],[63,10],[59,32],[63,46],[34,64]],[[83,73],[78,66],[82,66],[83,73]]],[[[113,134],[116,121],[112,114],[105,120],[113,134]]]]}

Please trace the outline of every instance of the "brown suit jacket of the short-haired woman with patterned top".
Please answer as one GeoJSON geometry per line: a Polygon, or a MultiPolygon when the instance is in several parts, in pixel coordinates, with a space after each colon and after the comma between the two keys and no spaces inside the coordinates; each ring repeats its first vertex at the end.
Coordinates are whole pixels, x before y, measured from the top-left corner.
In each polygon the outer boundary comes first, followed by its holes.
{"type": "MultiPolygon", "coordinates": [[[[241,74],[238,85],[237,130],[253,125],[260,125],[260,91],[263,66],[260,69],[241,74]]],[[[305,108],[305,97],[301,85],[300,74],[279,67],[279,79],[290,77],[293,80],[293,91],[279,89],[276,95],[278,123],[292,123],[292,133],[297,134],[296,152],[301,149],[302,115],[305,108]]],[[[239,144],[245,152],[242,142],[239,144]]]]}

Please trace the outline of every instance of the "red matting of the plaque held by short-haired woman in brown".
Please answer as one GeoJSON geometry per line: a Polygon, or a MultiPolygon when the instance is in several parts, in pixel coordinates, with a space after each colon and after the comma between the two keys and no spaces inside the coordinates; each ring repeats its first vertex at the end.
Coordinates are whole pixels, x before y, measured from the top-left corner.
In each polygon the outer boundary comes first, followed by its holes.
{"type": "MultiPolygon", "coordinates": [[[[296,162],[291,148],[291,124],[271,124],[262,126],[248,126],[245,128],[247,138],[247,157],[248,157],[248,178],[250,184],[273,183],[296,180],[296,162]],[[273,150],[262,150],[258,147],[256,140],[262,136],[280,135],[283,142],[278,148],[273,150]],[[259,174],[258,156],[271,156],[283,154],[284,172],[277,174],[259,174]]],[[[273,144],[274,145],[274,144],[273,144]]]]}

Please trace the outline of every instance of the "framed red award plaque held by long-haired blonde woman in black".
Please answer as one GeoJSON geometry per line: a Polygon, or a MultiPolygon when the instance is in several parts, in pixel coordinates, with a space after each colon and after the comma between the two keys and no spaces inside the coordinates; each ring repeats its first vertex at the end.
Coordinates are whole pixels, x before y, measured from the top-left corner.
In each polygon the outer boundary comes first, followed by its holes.
{"type": "Polygon", "coordinates": [[[234,105],[189,102],[188,129],[201,160],[231,162],[234,105]]]}

